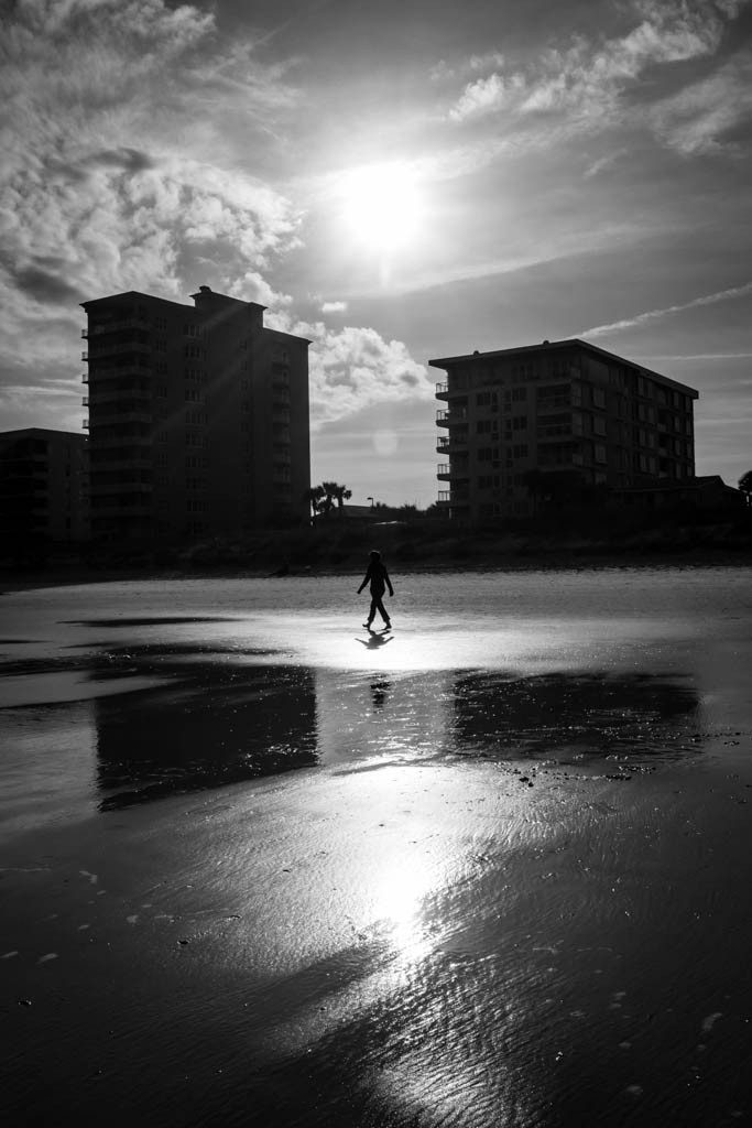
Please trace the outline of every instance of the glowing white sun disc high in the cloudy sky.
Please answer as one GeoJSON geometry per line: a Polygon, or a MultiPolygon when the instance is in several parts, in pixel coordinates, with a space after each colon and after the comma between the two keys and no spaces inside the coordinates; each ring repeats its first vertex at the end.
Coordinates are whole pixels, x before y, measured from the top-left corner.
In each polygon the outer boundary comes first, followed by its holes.
{"type": "Polygon", "coordinates": [[[340,182],[343,217],[361,245],[395,252],[414,243],[422,202],[415,175],[406,165],[366,165],[340,182]]]}

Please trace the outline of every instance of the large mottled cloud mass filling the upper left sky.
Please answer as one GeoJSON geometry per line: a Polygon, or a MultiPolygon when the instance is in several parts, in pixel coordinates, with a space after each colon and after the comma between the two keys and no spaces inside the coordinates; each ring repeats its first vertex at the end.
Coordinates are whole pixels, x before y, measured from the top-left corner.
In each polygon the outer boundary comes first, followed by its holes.
{"type": "Polygon", "coordinates": [[[196,266],[207,281],[223,268],[260,287],[269,257],[295,245],[299,217],[237,152],[210,153],[206,136],[239,105],[290,103],[278,68],[259,64],[250,81],[248,45],[222,53],[211,14],[162,0],[25,0],[5,30],[0,329],[10,358],[20,340],[29,361],[47,356],[50,305],[78,320],[82,297],[175,297],[196,266]],[[220,105],[211,92],[232,76],[236,98],[220,105]]]}

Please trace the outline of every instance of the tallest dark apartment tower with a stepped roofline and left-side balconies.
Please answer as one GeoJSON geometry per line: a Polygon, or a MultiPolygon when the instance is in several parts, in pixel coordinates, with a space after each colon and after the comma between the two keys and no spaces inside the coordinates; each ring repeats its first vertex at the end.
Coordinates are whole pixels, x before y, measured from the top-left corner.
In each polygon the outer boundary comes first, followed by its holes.
{"type": "Polygon", "coordinates": [[[130,291],[88,316],[91,532],[180,540],[306,520],[308,345],[264,306],[130,291]]]}

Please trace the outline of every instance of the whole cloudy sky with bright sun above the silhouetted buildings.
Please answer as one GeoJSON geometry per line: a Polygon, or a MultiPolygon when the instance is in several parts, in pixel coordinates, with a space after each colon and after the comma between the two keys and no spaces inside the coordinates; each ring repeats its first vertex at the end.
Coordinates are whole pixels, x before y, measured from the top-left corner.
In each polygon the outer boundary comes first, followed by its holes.
{"type": "Polygon", "coordinates": [[[1,429],[80,430],[78,302],[311,347],[312,477],[435,500],[431,356],[583,336],[752,468],[752,0],[0,8],[1,429]]]}

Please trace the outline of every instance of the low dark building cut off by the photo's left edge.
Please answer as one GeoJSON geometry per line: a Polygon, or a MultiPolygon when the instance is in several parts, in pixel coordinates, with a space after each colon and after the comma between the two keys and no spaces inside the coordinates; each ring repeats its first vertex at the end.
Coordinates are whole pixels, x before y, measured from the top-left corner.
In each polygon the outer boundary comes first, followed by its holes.
{"type": "Polygon", "coordinates": [[[87,442],[82,434],[24,428],[0,433],[0,535],[6,546],[89,536],[87,442]]]}

